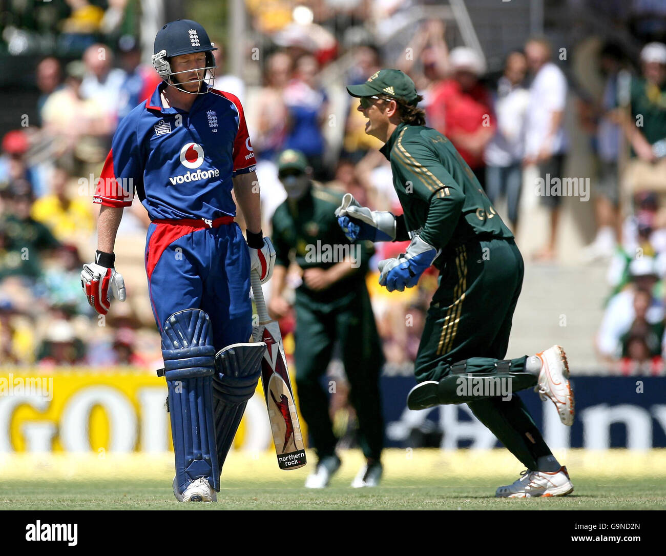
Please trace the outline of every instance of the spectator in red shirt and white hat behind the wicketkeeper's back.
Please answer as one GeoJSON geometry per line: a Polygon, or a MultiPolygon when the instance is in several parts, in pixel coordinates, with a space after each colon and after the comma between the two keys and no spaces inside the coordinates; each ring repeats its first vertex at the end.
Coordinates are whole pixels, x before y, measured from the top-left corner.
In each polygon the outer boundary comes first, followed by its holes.
{"type": "Polygon", "coordinates": [[[449,55],[449,66],[452,77],[432,89],[426,110],[428,125],[451,140],[485,188],[484,149],[496,124],[488,89],[479,81],[484,61],[476,51],[457,47],[449,55]]]}

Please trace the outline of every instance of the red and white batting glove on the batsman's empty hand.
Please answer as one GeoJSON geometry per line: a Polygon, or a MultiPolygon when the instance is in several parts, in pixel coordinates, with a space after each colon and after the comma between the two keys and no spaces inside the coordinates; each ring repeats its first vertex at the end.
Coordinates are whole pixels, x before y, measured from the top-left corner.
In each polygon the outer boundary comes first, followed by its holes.
{"type": "Polygon", "coordinates": [[[99,314],[105,315],[111,307],[111,296],[125,301],[125,280],[120,272],[113,268],[115,254],[97,251],[96,262],[83,265],[81,287],[90,306],[99,314]]]}

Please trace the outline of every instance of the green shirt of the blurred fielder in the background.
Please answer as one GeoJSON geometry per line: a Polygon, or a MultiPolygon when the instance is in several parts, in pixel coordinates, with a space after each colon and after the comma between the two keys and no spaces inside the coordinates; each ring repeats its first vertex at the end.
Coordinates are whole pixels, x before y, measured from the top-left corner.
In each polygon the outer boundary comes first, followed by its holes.
{"type": "MultiPolygon", "coordinates": [[[[351,274],[326,290],[310,290],[305,283],[296,290],[313,301],[327,302],[350,294],[365,284],[368,262],[374,254],[372,242],[350,244],[338,225],[335,210],[342,204],[342,194],[312,184],[297,201],[285,200],[276,208],[271,220],[271,240],[275,264],[289,266],[292,258],[303,270],[330,268],[349,254],[355,260],[351,274]]],[[[365,286],[364,286],[365,287],[365,286]]]]}

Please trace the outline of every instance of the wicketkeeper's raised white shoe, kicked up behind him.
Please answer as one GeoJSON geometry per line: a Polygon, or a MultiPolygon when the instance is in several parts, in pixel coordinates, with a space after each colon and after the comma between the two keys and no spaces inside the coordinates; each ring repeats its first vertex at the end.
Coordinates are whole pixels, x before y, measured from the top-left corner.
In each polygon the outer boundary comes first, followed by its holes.
{"type": "Polygon", "coordinates": [[[539,398],[544,402],[545,400],[553,402],[557,408],[559,420],[570,427],[573,424],[574,402],[568,380],[567,356],[561,346],[553,346],[539,352],[537,357],[541,360],[541,370],[534,392],[538,392],[539,398]]]}

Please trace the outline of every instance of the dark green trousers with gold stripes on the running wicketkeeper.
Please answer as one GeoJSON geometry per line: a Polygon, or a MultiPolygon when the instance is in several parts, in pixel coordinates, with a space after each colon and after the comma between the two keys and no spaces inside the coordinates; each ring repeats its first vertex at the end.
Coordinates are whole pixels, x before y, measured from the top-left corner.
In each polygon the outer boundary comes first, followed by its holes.
{"type": "Polygon", "coordinates": [[[467,403],[525,467],[537,469],[537,459],[551,451],[514,393],[535,386],[537,377],[524,372],[526,356],[504,359],[523,274],[523,258],[512,239],[456,247],[440,274],[414,372],[418,382],[440,382],[443,402],[467,403]],[[511,385],[510,399],[472,392],[461,379],[473,377],[511,385]]]}

